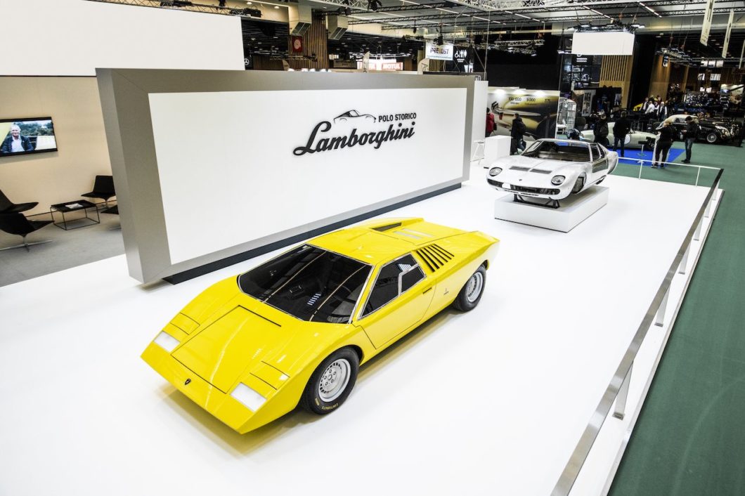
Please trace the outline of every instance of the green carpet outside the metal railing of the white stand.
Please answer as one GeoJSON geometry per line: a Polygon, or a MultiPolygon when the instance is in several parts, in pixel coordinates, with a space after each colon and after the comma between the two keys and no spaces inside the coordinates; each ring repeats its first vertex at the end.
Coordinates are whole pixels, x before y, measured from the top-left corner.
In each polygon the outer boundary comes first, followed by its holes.
{"type": "Polygon", "coordinates": [[[745,495],[745,147],[695,144],[692,162],[724,168],[726,193],[611,496],[745,495]]]}

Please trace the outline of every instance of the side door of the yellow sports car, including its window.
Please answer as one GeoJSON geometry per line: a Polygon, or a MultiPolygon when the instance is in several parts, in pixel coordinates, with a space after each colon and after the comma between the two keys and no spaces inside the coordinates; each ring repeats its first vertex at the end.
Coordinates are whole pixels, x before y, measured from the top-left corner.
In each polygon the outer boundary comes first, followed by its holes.
{"type": "Polygon", "coordinates": [[[411,254],[378,270],[357,322],[375,348],[421,322],[434,295],[433,284],[411,254]]]}

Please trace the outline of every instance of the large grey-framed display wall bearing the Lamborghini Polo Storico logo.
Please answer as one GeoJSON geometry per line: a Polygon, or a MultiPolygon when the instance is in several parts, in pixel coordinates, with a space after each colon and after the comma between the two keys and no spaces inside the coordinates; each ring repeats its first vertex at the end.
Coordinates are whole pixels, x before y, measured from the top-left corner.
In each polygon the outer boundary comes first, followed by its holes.
{"type": "Polygon", "coordinates": [[[130,274],[144,282],[468,176],[470,78],[101,69],[98,79],[130,274]]]}

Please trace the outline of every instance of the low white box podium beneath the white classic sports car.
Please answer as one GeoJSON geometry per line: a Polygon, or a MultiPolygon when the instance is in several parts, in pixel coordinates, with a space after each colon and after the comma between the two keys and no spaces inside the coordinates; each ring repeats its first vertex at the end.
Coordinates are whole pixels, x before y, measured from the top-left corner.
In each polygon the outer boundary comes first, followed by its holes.
{"type": "Polygon", "coordinates": [[[495,201],[494,217],[528,226],[569,232],[587,217],[606,206],[608,194],[609,188],[593,186],[580,194],[573,194],[559,201],[561,206],[558,209],[519,203],[513,200],[512,194],[507,194],[495,201]]]}

